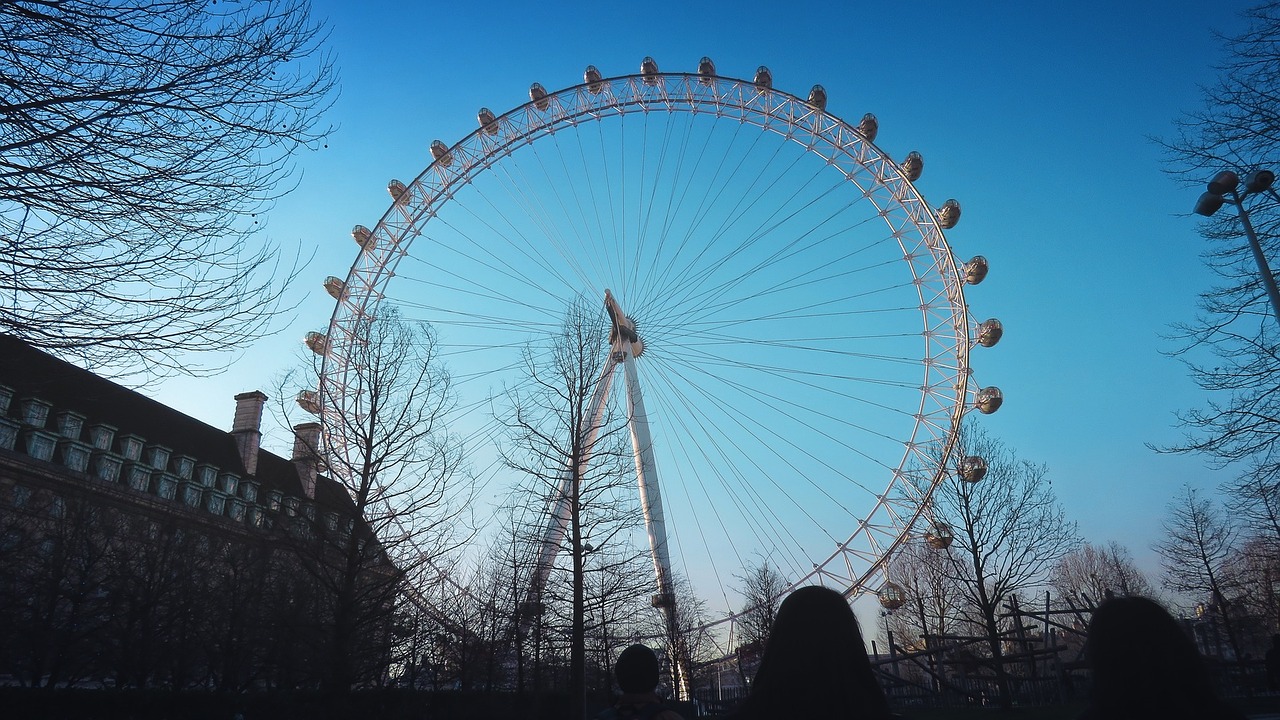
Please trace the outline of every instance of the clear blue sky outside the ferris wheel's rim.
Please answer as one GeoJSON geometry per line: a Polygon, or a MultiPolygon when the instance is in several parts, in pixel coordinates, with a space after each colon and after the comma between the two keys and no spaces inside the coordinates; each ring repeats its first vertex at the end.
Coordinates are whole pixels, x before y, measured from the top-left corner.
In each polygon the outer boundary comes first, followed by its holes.
{"type": "MultiPolygon", "coordinates": [[[[1174,413],[1204,400],[1162,336],[1215,281],[1189,215],[1199,188],[1162,173],[1152,137],[1197,108],[1219,58],[1212,32],[1236,29],[1244,6],[316,1],[340,70],[337,129],[297,156],[297,190],[265,229],[287,251],[314,254],[291,291],[298,307],[227,373],[155,393],[229,428],[232,396],[269,389],[297,363],[301,337],[324,329],[333,304],[320,283],[351,266],[349,228],[372,227],[387,181],[417,176],[430,142],[470,133],[479,108],[513,108],[534,81],[576,85],[588,64],[634,73],[645,55],[686,72],[708,55],[730,77],[763,64],[797,95],[822,83],[837,117],[874,113],[881,147],[923,154],[922,192],[961,202],[948,241],[992,268],[969,302],[1006,328],[973,359],[979,382],[1006,398],[983,425],[1050,466],[1088,541],[1119,541],[1155,578],[1165,505],[1184,483],[1216,488],[1228,475],[1147,447],[1175,442],[1174,413]]],[[[266,443],[287,452],[289,439],[266,443]]]]}

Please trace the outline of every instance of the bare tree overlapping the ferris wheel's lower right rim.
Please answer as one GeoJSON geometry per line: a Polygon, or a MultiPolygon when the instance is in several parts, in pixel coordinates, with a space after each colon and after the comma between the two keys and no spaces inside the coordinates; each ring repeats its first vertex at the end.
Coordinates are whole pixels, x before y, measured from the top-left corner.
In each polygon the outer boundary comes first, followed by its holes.
{"type": "Polygon", "coordinates": [[[1005,603],[1048,580],[1050,570],[1079,544],[1043,465],[1021,460],[1002,442],[966,428],[964,456],[987,461],[975,483],[951,474],[933,496],[938,520],[955,530],[943,551],[947,573],[961,598],[961,618],[987,638],[1001,706],[1011,706],[1004,664],[1000,615],[1005,603]]]}

